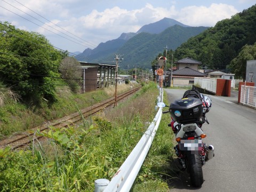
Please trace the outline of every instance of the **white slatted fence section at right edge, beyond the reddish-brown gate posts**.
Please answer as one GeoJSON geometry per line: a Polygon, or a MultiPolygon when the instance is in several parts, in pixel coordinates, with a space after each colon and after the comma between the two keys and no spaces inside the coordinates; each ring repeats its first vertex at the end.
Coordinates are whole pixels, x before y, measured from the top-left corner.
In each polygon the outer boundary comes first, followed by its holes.
{"type": "Polygon", "coordinates": [[[256,108],[256,87],[255,86],[241,86],[240,103],[256,108]]]}

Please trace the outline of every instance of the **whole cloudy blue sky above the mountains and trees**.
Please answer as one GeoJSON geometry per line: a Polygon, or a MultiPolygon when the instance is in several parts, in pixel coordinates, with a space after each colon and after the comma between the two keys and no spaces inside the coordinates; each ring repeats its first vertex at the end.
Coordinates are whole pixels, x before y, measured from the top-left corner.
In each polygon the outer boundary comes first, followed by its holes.
{"type": "Polygon", "coordinates": [[[164,17],[212,27],[255,4],[255,0],[1,0],[0,20],[43,34],[59,49],[82,52],[164,17]]]}

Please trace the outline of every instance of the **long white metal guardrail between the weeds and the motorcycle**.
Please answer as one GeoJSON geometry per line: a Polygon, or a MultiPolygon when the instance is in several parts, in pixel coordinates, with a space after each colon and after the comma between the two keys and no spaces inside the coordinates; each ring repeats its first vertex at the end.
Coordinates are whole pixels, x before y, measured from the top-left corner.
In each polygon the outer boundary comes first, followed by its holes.
{"type": "MultiPolygon", "coordinates": [[[[163,89],[161,87],[158,88],[158,102],[161,102],[163,101],[163,89]]],[[[123,165],[118,169],[111,181],[109,182],[107,179],[98,179],[95,181],[95,192],[130,191],[140,171],[140,167],[148,154],[151,143],[154,140],[161,118],[162,108],[159,108],[153,122],[149,125],[147,131],[142,135],[140,141],[126,158],[123,165]]]]}

